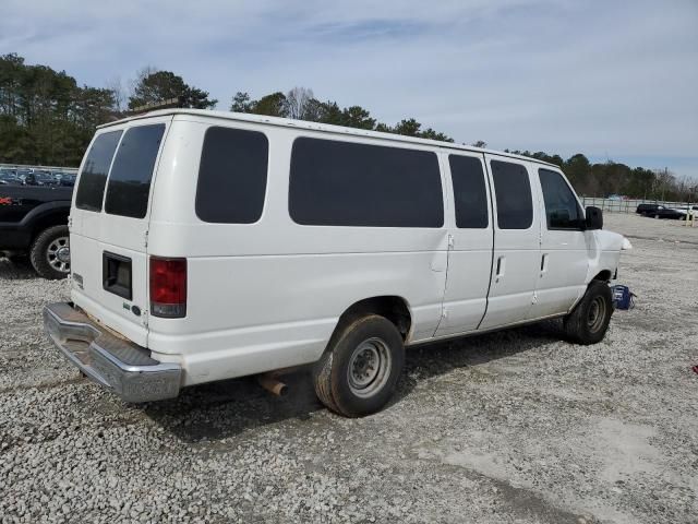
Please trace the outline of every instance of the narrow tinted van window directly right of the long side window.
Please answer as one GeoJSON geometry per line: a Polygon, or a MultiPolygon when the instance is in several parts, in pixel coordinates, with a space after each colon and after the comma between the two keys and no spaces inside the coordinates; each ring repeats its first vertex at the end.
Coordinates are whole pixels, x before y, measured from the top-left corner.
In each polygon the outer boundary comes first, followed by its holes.
{"type": "Polygon", "coordinates": [[[485,228],[488,218],[488,192],[484,187],[482,162],[473,156],[448,155],[450,178],[456,201],[456,226],[485,228]]]}

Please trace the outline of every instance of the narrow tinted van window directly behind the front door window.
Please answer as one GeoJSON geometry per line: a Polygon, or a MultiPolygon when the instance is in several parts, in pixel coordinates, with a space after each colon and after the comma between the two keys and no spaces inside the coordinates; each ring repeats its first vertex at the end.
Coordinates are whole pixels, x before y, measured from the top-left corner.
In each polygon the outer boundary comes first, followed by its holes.
{"type": "Polygon", "coordinates": [[[492,160],[490,166],[500,229],[528,229],[533,224],[533,201],[526,167],[501,160],[492,160]]]}

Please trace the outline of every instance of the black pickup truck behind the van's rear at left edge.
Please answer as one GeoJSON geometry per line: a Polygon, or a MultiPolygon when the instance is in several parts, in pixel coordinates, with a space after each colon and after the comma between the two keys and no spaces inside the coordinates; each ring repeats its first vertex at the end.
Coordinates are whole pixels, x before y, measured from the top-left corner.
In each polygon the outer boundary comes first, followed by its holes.
{"type": "Polygon", "coordinates": [[[70,273],[71,178],[74,183],[72,174],[0,171],[0,251],[27,253],[45,278],[70,273]]]}

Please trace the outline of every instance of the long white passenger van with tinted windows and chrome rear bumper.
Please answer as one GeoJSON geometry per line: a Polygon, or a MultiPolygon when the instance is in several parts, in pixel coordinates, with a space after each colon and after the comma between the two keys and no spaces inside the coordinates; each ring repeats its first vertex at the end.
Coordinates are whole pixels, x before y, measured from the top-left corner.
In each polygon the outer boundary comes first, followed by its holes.
{"type": "Polygon", "coordinates": [[[99,128],[69,226],[72,302],[44,319],[87,377],[145,402],[314,364],[346,416],[385,405],[405,346],[554,317],[599,342],[624,246],[554,165],[190,109],[99,128]]]}

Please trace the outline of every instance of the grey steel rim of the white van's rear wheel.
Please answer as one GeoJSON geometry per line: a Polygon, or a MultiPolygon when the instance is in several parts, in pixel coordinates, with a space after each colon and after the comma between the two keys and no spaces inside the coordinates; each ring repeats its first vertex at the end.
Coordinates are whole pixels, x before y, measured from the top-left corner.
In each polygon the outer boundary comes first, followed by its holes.
{"type": "Polygon", "coordinates": [[[347,368],[347,380],[351,393],[366,398],[375,395],[388,381],[393,357],[388,345],[377,336],[359,344],[347,368]]]}

